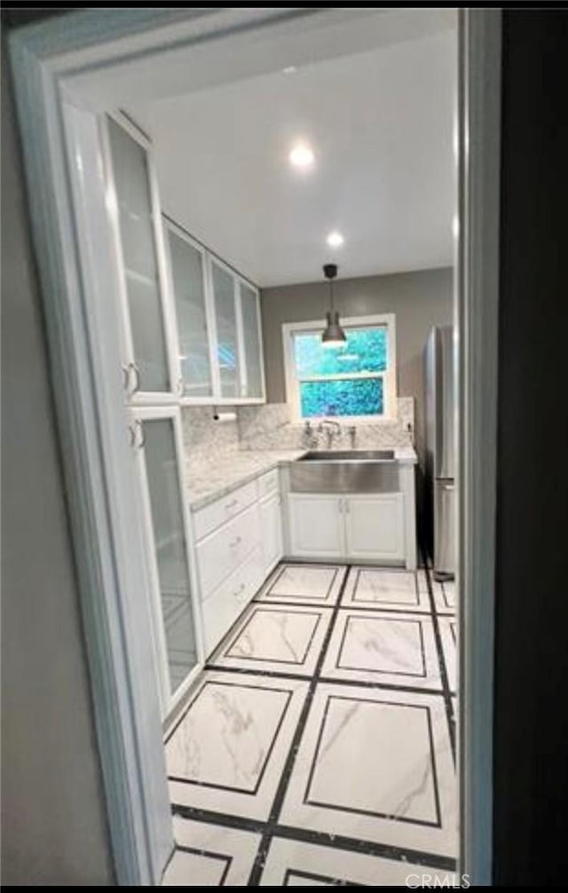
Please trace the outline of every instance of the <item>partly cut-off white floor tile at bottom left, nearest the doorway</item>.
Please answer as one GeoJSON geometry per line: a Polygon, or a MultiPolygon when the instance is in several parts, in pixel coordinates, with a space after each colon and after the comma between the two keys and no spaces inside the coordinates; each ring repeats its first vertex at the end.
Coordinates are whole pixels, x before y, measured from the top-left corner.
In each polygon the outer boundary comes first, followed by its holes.
{"type": "Polygon", "coordinates": [[[192,822],[176,815],[178,847],[163,878],[163,887],[246,887],[260,834],[192,822]]]}

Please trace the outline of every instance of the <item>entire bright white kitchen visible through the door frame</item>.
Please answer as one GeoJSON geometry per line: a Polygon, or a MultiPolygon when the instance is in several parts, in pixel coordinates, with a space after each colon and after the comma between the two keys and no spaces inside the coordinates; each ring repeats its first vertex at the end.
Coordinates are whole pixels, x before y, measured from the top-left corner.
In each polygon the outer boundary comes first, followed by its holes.
{"type": "Polygon", "coordinates": [[[104,121],[166,884],[455,871],[454,51],[447,27],[104,121]]]}

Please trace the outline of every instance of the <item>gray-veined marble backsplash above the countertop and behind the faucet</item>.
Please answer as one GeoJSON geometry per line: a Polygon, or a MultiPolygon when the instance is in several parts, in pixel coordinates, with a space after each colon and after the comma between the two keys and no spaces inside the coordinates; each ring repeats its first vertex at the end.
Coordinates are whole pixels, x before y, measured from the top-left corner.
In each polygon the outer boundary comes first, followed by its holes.
{"type": "MultiPolygon", "coordinates": [[[[229,450],[299,449],[305,447],[304,423],[290,421],[286,403],[268,403],[262,406],[223,406],[222,413],[235,412],[230,421],[215,421],[213,406],[185,406],[181,410],[183,439],[192,459],[214,461],[215,455],[229,450]]],[[[340,420],[339,420],[340,421],[340,420]]],[[[314,427],[316,427],[314,425],[314,427]]],[[[344,426],[341,436],[335,438],[334,449],[346,449],[351,439],[344,426]]],[[[356,426],[355,447],[407,447],[413,443],[414,400],[399,397],[397,418],[376,422],[364,422],[356,426]],[[410,426],[410,428],[409,428],[410,426]]],[[[320,436],[320,447],[327,445],[320,436]]]]}

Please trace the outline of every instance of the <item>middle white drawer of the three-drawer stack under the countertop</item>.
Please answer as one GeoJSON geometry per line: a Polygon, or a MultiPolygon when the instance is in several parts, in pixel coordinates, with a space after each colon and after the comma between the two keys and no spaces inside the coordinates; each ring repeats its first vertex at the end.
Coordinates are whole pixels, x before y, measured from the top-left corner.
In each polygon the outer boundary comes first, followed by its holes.
{"type": "Polygon", "coordinates": [[[260,542],[257,503],[202,539],[196,547],[201,597],[206,598],[219,586],[260,542]]]}

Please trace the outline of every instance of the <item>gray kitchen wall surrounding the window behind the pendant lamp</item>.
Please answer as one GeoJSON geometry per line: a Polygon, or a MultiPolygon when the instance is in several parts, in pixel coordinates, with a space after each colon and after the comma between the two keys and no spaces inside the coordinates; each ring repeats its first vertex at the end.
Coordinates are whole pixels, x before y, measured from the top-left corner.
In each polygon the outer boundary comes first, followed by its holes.
{"type": "MultiPolygon", "coordinates": [[[[416,397],[416,436],[422,452],[422,347],[430,326],[452,321],[451,268],[338,280],[335,294],[344,316],[396,313],[398,396],[416,397]]],[[[286,401],[282,323],[323,319],[327,300],[323,281],[263,288],[264,364],[270,403],[286,401]]]]}

